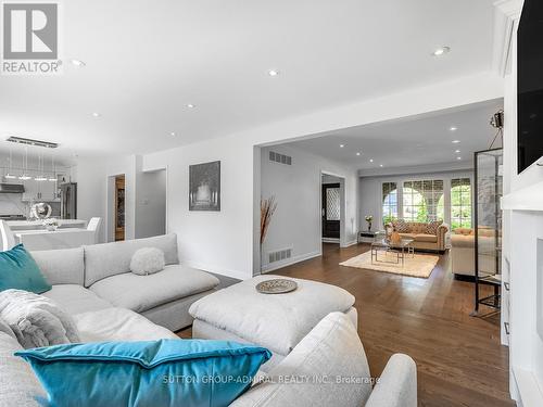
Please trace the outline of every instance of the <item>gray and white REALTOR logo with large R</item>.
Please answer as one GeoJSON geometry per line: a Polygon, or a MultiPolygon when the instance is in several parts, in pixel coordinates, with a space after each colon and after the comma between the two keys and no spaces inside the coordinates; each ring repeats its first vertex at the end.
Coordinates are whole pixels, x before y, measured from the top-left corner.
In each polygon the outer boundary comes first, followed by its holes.
{"type": "Polygon", "coordinates": [[[2,22],[2,74],[59,73],[58,3],[7,2],[2,22]]]}

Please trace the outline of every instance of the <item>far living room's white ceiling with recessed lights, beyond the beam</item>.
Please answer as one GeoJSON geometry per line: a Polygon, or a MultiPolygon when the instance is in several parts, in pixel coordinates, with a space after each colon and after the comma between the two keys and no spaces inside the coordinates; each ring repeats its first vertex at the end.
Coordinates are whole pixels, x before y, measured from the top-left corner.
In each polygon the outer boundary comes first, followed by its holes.
{"type": "MultiPolygon", "coordinates": [[[[490,118],[500,109],[502,100],[489,101],[421,117],[337,130],[288,145],[355,169],[381,170],[381,164],[382,171],[391,167],[458,164],[457,157],[471,167],[472,153],[488,149],[496,135],[490,118]],[[456,130],[452,131],[452,127],[456,130]]],[[[500,142],[494,147],[500,147],[500,142]]]]}

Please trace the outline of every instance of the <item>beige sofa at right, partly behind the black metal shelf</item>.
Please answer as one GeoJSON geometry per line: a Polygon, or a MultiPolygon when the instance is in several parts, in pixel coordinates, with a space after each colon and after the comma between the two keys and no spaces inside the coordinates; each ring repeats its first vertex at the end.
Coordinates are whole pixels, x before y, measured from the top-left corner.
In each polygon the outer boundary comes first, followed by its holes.
{"type": "MultiPolygon", "coordinates": [[[[495,270],[495,230],[479,229],[479,270],[493,275],[495,270]],[[485,250],[488,249],[488,250],[485,250]]],[[[475,276],[475,230],[457,228],[451,234],[451,271],[459,276],[475,276]]]]}

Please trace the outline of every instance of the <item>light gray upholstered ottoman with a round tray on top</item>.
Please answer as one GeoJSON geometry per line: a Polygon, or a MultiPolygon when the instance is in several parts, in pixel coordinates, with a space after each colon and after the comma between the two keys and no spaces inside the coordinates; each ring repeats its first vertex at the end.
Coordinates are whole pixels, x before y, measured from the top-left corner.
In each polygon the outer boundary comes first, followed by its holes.
{"type": "Polygon", "coordinates": [[[258,276],[230,285],[193,303],[192,338],[252,343],[267,347],[273,358],[264,370],[282,360],[328,314],[346,314],[357,327],[354,296],[317,281],[289,278],[298,289],[285,294],[261,294],[258,282],[281,276],[258,276]]]}

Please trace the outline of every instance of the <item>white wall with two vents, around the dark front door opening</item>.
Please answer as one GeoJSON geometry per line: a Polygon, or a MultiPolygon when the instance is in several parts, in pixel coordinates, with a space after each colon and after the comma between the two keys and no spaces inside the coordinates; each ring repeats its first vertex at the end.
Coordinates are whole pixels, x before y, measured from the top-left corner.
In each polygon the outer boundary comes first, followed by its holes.
{"type": "Polygon", "coordinates": [[[262,247],[264,271],[317,256],[321,253],[321,174],[344,179],[345,200],[341,215],[344,226],[340,245],[356,242],[356,171],[341,164],[308,154],[288,144],[262,149],[261,194],[276,198],[277,211],[262,247]],[[269,151],[290,155],[292,165],[269,161],[269,151]],[[344,218],[344,219],[343,219],[344,218]],[[268,253],[292,249],[292,257],[268,264],[268,253]]]}

